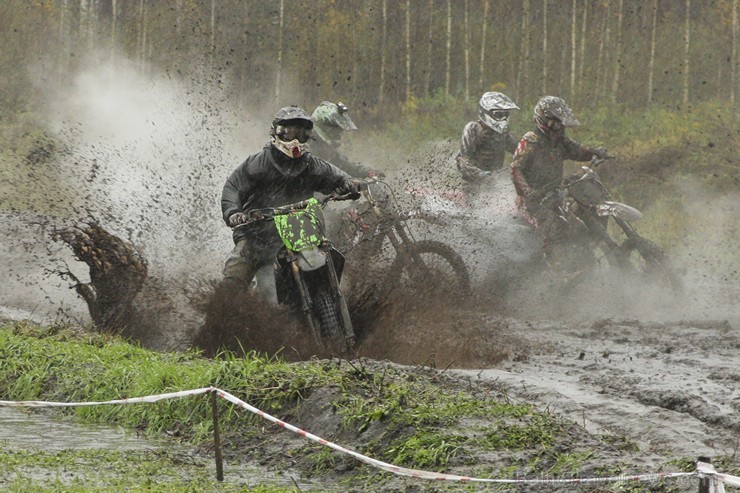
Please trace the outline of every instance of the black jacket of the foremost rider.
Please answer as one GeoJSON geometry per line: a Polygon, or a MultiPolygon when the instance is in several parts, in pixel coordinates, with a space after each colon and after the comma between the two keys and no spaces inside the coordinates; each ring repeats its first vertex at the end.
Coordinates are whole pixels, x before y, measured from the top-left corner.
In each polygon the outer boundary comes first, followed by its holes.
{"type": "MultiPolygon", "coordinates": [[[[306,153],[293,160],[267,144],[249,156],[226,180],[221,193],[221,211],[226,224],[235,212],[278,207],[305,200],[314,192],[331,193],[350,179],[333,164],[306,153]]],[[[271,222],[257,222],[234,230],[234,243],[252,236],[274,236],[271,222]]]]}

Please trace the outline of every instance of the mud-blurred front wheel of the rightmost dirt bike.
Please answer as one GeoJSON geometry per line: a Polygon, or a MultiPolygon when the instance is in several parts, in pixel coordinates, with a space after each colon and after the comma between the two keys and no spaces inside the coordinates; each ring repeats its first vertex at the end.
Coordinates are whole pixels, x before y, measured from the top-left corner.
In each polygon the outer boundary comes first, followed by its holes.
{"type": "Polygon", "coordinates": [[[630,266],[648,281],[677,293],[683,290],[683,282],[674,270],[668,254],[658,245],[637,236],[625,240],[620,248],[630,266]]]}

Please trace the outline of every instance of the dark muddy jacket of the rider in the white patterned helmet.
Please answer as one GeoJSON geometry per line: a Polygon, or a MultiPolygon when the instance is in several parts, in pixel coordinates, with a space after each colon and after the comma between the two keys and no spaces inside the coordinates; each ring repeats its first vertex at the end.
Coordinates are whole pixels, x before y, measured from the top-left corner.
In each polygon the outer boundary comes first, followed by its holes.
{"type": "Polygon", "coordinates": [[[507,132],[500,134],[480,121],[465,125],[460,152],[455,159],[463,179],[476,181],[481,171],[494,171],[504,164],[506,153],[516,149],[516,138],[507,132]]]}

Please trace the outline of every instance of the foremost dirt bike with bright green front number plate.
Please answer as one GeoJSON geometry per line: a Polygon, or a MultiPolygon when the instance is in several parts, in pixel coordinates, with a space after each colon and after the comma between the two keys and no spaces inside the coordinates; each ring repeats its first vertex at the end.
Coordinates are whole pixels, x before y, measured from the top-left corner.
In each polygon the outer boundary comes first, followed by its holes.
{"type": "Polygon", "coordinates": [[[314,342],[340,354],[354,349],[355,334],[339,287],[344,256],[325,235],[323,208],[348,195],[332,193],[281,207],[253,209],[247,222],[272,221],[283,241],[273,265],[277,301],[303,312],[314,342]]]}

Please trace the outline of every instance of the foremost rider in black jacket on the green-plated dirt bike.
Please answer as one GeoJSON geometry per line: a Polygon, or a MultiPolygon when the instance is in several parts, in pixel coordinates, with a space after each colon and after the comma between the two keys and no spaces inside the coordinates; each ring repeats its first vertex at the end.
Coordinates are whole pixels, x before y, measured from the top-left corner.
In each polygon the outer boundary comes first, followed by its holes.
{"type": "MultiPolygon", "coordinates": [[[[249,156],[226,180],[221,194],[223,219],[230,227],[247,221],[251,209],[298,202],[315,192],[339,189],[360,196],[361,181],[308,152],[313,121],[297,106],[280,109],[270,127],[270,142],[249,156]]],[[[223,269],[225,280],[248,286],[269,265],[282,244],[270,222],[256,222],[233,233],[234,249],[223,269]]]]}

